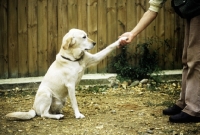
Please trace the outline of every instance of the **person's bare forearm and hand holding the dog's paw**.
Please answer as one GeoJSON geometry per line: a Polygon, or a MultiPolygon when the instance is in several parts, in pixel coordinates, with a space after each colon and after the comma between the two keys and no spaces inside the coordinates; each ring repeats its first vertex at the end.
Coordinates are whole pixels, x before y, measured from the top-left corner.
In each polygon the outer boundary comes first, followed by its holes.
{"type": "Polygon", "coordinates": [[[157,17],[157,12],[148,10],[144,13],[138,24],[132,31],[122,34],[120,37],[128,37],[127,40],[122,40],[121,45],[130,43],[140,32],[142,32],[151,22],[157,17]]]}

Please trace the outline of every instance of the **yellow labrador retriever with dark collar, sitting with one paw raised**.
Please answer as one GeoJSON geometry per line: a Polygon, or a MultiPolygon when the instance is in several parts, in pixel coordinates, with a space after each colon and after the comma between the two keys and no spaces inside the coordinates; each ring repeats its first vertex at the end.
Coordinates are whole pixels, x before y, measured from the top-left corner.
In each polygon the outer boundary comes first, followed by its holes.
{"type": "Polygon", "coordinates": [[[75,97],[75,86],[81,80],[87,67],[98,64],[121,40],[120,38],[104,50],[90,54],[95,42],[79,29],[71,29],[62,40],[60,52],[49,67],[35,96],[32,109],[29,112],[13,112],[6,115],[9,120],[28,120],[36,115],[45,118],[60,119],[64,115],[61,109],[69,95],[76,118],[84,118],[80,113],[75,97]]]}

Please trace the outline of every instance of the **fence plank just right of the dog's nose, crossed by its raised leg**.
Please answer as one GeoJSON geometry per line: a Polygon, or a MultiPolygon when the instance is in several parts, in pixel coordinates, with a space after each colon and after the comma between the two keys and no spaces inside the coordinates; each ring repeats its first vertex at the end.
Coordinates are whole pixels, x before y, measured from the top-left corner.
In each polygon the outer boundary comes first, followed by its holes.
{"type": "MultiPolygon", "coordinates": [[[[106,3],[105,1],[98,0],[98,51],[101,51],[107,46],[107,25],[105,22],[107,21],[106,17],[106,3]]],[[[98,65],[98,73],[107,72],[107,58],[102,60],[98,65]]]]}

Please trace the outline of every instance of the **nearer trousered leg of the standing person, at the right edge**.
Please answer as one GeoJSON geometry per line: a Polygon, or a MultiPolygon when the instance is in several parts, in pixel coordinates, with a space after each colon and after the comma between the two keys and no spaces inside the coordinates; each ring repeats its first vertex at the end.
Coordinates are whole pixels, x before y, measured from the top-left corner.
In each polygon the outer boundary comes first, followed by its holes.
{"type": "Polygon", "coordinates": [[[185,103],[183,112],[200,117],[200,16],[190,20],[185,103]]]}

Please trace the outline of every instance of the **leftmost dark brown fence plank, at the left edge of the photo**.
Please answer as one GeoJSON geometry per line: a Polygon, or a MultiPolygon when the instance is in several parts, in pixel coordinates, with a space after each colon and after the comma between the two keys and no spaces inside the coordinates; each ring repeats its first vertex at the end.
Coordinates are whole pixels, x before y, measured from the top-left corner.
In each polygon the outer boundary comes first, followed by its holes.
{"type": "Polygon", "coordinates": [[[0,78],[8,78],[7,0],[0,1],[0,78]]]}

